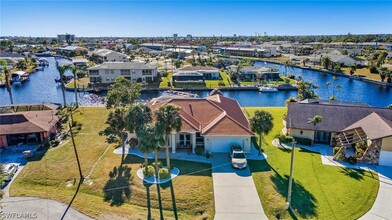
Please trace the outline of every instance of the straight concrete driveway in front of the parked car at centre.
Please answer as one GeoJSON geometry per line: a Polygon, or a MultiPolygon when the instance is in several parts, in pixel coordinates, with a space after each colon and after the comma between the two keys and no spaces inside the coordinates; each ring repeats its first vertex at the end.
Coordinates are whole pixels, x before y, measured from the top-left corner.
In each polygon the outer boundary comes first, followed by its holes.
{"type": "Polygon", "coordinates": [[[212,156],[214,182],[215,220],[268,219],[249,168],[237,170],[231,167],[229,154],[212,156]]]}

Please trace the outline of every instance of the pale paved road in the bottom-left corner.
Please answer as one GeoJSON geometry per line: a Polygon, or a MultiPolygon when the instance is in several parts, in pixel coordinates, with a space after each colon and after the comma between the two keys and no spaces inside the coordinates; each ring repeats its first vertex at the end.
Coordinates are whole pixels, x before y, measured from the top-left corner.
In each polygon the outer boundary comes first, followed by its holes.
{"type": "MultiPolygon", "coordinates": [[[[34,197],[9,197],[0,201],[4,219],[60,219],[66,205],[49,199],[34,197]]],[[[70,208],[64,219],[90,220],[92,218],[70,208]]]]}

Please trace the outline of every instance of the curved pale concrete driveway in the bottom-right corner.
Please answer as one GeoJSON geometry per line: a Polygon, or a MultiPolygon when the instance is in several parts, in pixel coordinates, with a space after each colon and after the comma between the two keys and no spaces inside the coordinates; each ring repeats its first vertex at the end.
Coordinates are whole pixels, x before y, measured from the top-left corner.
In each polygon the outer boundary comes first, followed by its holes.
{"type": "Polygon", "coordinates": [[[360,220],[392,219],[392,167],[378,166],[380,186],[372,208],[360,220]]]}

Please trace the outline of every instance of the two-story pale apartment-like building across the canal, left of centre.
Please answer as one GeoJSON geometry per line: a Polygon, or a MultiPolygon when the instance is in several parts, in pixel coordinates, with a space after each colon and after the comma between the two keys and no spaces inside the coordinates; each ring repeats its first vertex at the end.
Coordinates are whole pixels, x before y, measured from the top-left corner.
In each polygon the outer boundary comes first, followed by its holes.
{"type": "Polygon", "coordinates": [[[106,62],[87,69],[90,82],[109,84],[123,76],[133,82],[153,82],[157,78],[157,67],[141,62],[106,62]]]}

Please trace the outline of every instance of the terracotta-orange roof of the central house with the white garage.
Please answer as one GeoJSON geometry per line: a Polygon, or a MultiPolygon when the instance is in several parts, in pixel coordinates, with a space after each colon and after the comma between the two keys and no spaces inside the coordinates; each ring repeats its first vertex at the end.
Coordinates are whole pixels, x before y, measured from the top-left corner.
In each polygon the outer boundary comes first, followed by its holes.
{"type": "Polygon", "coordinates": [[[157,98],[149,102],[155,110],[166,104],[181,107],[181,130],[208,135],[253,135],[249,122],[236,100],[222,95],[207,98],[157,98]]]}

